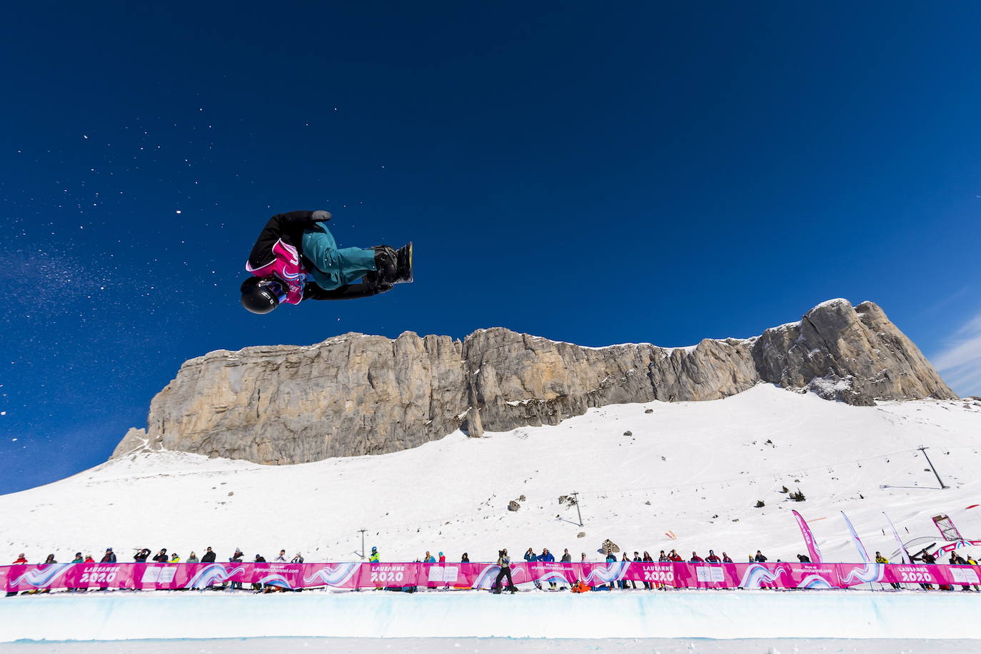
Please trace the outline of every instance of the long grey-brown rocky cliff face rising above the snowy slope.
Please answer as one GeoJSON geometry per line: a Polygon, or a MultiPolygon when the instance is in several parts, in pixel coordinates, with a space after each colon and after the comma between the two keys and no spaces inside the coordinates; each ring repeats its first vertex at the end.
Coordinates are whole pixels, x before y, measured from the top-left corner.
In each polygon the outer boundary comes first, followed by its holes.
{"type": "Polygon", "coordinates": [[[589,348],[501,327],[462,342],[349,333],[187,361],[154,397],[146,430],[130,429],[113,456],[163,447],[304,463],[415,447],[457,428],[556,425],[607,404],[718,399],[759,382],[858,405],[956,397],[871,302],[831,300],[800,323],[688,348],[589,348]]]}

